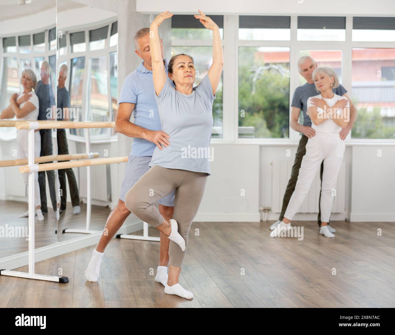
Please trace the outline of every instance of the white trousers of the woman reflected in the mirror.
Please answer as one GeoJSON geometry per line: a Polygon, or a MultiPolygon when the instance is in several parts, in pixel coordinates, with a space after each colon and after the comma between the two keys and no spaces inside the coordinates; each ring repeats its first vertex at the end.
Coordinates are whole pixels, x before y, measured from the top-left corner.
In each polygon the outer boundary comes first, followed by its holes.
{"type": "MultiPolygon", "coordinates": [[[[28,158],[28,130],[19,129],[17,131],[17,145],[18,159],[28,158]]],[[[40,130],[34,132],[34,157],[40,157],[41,153],[41,136],[40,130]]],[[[26,185],[29,184],[29,174],[22,173],[24,183],[26,185]]],[[[41,206],[41,198],[40,198],[40,186],[38,184],[38,172],[34,173],[34,204],[36,206],[41,206]]]]}

